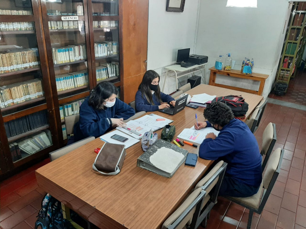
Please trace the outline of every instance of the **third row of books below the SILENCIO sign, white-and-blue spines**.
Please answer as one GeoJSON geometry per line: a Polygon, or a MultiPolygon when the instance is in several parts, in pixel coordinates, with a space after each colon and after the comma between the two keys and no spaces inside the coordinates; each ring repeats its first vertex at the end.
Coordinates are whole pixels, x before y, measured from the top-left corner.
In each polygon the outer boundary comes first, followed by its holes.
{"type": "Polygon", "coordinates": [[[88,72],[86,70],[71,72],[68,74],[56,75],[57,91],[64,91],[71,88],[77,88],[88,84],[88,72]]]}

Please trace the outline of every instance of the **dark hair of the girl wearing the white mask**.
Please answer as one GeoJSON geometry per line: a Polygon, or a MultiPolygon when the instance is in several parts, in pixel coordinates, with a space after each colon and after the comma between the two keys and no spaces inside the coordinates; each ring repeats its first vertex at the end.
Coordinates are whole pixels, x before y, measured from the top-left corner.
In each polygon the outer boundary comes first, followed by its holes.
{"type": "Polygon", "coordinates": [[[109,82],[101,82],[92,90],[88,104],[101,110],[104,108],[103,102],[105,102],[105,99],[108,99],[112,94],[118,94],[115,85],[109,82]]]}

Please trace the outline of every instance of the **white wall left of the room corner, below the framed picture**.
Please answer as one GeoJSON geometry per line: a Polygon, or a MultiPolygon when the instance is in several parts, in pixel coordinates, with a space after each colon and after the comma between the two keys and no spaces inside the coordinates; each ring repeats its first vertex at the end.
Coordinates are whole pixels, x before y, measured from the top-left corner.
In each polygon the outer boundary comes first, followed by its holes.
{"type": "MultiPolygon", "coordinates": [[[[166,12],[166,0],[149,1],[147,70],[153,69],[161,75],[161,87],[165,77],[163,67],[176,62],[177,50],[190,48],[193,53],[198,1],[186,0],[182,13],[166,12]]],[[[185,84],[187,79],[182,78],[180,81],[185,84]]],[[[176,90],[173,78],[166,83],[165,93],[176,90]]]]}

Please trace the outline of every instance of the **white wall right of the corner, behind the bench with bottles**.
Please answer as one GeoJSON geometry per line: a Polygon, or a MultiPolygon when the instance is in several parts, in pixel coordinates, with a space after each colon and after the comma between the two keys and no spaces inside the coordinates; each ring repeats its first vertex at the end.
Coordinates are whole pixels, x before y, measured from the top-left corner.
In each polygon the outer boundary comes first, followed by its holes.
{"type": "MultiPolygon", "coordinates": [[[[245,57],[254,58],[253,71],[270,75],[263,92],[267,97],[282,51],[288,0],[258,0],[257,8],[225,7],[226,2],[201,0],[195,54],[208,56],[207,66],[212,67],[219,55],[230,52],[236,61],[235,69],[240,69],[245,57]]],[[[208,68],[205,75],[208,82],[208,68]]],[[[243,84],[240,79],[219,80],[224,84],[243,84]]],[[[252,85],[246,88],[252,89],[252,85]]]]}

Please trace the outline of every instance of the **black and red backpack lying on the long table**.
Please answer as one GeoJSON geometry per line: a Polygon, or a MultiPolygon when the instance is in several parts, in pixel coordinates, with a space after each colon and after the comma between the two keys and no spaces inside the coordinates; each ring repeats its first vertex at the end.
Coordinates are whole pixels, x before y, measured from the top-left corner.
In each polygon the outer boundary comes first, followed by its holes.
{"type": "Polygon", "coordinates": [[[227,95],[227,96],[221,96],[216,97],[211,101],[213,102],[222,102],[225,103],[232,109],[235,118],[237,119],[245,119],[245,114],[249,109],[249,104],[247,104],[244,101],[244,98],[242,98],[240,95],[227,95]]]}

